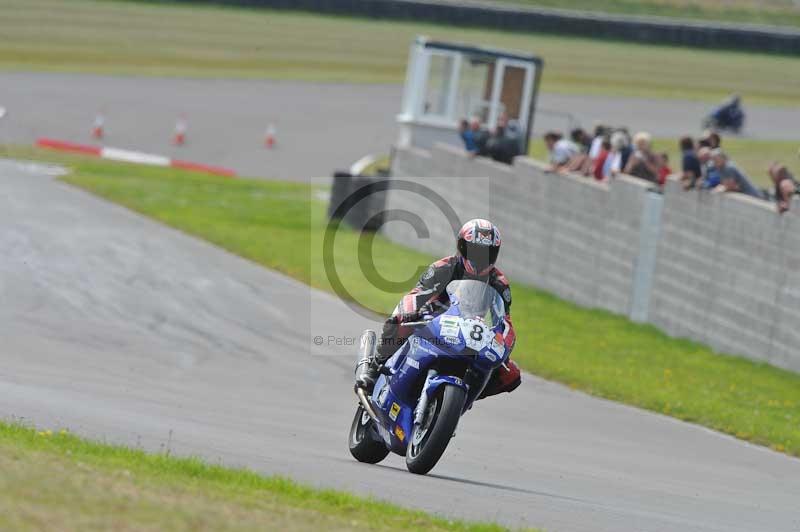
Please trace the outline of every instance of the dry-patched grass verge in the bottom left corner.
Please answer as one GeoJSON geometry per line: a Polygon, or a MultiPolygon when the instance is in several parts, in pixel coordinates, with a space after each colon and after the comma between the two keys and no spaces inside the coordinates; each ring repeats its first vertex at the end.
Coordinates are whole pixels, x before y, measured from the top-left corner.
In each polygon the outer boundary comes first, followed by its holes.
{"type": "Polygon", "coordinates": [[[0,471],[2,530],[504,530],[15,423],[0,471]]]}

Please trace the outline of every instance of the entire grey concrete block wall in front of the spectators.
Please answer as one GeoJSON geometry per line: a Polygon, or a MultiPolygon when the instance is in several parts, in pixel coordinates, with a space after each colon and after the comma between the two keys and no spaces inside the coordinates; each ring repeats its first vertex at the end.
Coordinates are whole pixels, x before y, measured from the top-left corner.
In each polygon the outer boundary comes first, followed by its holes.
{"type": "MultiPolygon", "coordinates": [[[[528,158],[514,166],[470,159],[443,144],[398,149],[393,174],[446,198],[459,221],[492,219],[504,239],[500,266],[516,282],[800,371],[795,212],[779,216],[765,202],[675,183],[661,196],[627,176],[598,184],[546,173],[528,158]]],[[[430,230],[420,239],[394,222],[384,227],[389,238],[453,252],[452,224],[426,198],[393,190],[387,209],[417,213],[430,230]]]]}

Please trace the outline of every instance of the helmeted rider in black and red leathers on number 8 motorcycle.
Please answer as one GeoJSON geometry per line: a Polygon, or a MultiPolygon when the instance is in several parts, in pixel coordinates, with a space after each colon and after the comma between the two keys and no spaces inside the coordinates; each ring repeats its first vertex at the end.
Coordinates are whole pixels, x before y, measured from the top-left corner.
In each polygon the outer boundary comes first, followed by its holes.
{"type": "MultiPolygon", "coordinates": [[[[422,274],[417,285],[406,294],[385,321],[378,353],[374,364],[362,364],[357,370],[356,384],[371,390],[382,366],[411,336],[413,329],[404,323],[432,317],[446,311],[449,306],[447,285],[460,279],[476,279],[488,282],[497,290],[505,304],[505,330],[503,339],[506,349],[513,349],[516,335],[511,323],[511,287],[503,272],[495,266],[500,252],[500,231],[495,225],[481,218],[465,223],[458,232],[455,255],[450,255],[431,264],[422,274]]],[[[511,392],[521,383],[519,367],[508,361],[507,367],[499,367],[492,374],[480,398],[511,392]]]]}

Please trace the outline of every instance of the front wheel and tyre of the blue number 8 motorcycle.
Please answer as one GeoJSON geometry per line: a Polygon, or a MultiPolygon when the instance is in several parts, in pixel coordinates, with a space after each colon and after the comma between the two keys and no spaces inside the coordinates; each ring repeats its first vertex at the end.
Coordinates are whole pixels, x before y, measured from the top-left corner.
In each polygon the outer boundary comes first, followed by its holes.
{"type": "Polygon", "coordinates": [[[406,467],[412,473],[424,475],[444,454],[450,438],[456,431],[466,392],[457,386],[445,384],[428,402],[421,425],[414,425],[406,449],[406,467]]]}

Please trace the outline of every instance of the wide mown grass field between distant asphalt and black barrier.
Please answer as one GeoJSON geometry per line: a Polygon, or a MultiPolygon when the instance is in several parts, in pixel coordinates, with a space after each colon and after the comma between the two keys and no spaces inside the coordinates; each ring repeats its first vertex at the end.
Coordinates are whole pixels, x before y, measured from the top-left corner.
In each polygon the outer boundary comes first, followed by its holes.
{"type": "Polygon", "coordinates": [[[0,13],[5,70],[402,83],[422,33],[537,53],[546,92],[800,104],[788,56],[213,6],[0,0],[0,13]]]}

